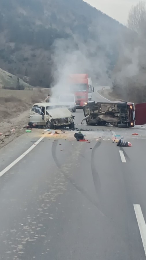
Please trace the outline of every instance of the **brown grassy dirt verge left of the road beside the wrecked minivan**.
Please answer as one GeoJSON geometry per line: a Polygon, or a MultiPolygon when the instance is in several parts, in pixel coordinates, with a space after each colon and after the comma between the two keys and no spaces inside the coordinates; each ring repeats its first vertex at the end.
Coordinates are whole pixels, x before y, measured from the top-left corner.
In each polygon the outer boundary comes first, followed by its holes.
{"type": "Polygon", "coordinates": [[[47,94],[48,90],[0,89],[0,148],[25,133],[22,129],[29,121],[31,106],[43,101],[47,94]]]}

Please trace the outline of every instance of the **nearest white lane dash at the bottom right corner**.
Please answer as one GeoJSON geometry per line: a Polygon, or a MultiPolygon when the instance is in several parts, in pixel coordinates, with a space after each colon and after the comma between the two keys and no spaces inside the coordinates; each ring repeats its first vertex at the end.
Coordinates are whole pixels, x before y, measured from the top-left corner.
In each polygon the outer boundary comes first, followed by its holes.
{"type": "Polygon", "coordinates": [[[143,217],[143,213],[141,211],[141,206],[139,204],[134,204],[133,206],[134,206],[134,211],[135,211],[139,231],[140,231],[140,234],[141,234],[141,239],[142,239],[142,242],[143,242],[143,248],[145,250],[145,255],[146,255],[146,224],[145,224],[145,220],[144,220],[144,217],[143,217]]]}

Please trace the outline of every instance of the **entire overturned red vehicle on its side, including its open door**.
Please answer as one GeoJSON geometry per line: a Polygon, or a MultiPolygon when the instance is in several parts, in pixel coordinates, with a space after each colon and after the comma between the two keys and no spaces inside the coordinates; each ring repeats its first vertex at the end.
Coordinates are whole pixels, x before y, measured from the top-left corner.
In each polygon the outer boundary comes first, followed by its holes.
{"type": "Polygon", "coordinates": [[[87,125],[106,125],[134,127],[146,123],[146,103],[129,102],[88,102],[83,107],[87,125]]]}

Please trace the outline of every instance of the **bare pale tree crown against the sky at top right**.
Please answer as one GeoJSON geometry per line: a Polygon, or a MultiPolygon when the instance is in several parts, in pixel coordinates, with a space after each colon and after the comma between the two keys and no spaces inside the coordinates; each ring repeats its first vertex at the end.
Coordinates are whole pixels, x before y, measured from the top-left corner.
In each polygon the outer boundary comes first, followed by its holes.
{"type": "Polygon", "coordinates": [[[140,1],[131,7],[128,16],[128,28],[132,31],[143,34],[146,30],[146,3],[140,1]]]}

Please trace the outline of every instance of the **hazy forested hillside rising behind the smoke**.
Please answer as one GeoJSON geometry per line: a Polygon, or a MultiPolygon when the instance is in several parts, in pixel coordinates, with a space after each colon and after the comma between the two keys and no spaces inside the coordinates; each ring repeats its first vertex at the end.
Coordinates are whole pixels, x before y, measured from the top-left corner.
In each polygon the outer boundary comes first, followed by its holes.
{"type": "Polygon", "coordinates": [[[1,0],[0,67],[49,87],[59,63],[77,51],[79,66],[72,63],[101,78],[116,62],[122,30],[82,0],[1,0]]]}

